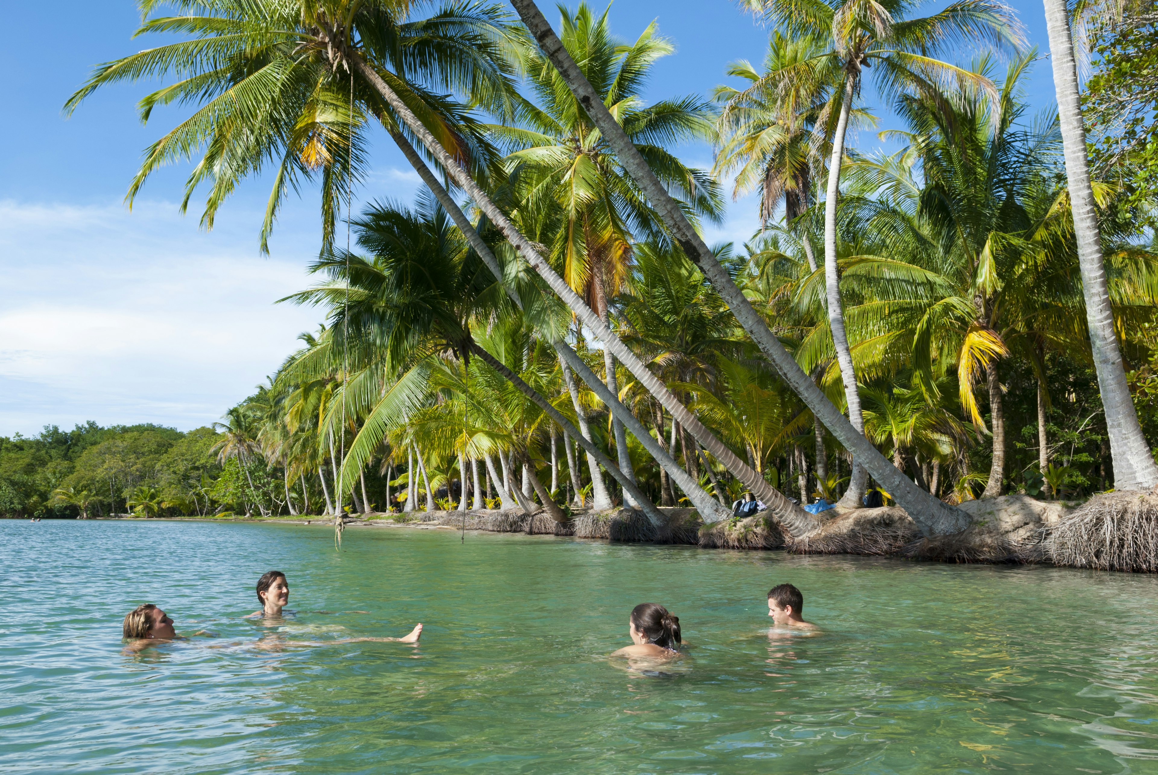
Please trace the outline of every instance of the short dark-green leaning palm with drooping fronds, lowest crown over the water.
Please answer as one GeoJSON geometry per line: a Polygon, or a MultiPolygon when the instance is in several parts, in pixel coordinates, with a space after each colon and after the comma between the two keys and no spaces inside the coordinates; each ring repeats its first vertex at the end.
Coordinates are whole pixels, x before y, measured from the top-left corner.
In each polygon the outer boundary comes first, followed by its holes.
{"type": "MultiPolygon", "coordinates": [[[[470,322],[476,312],[492,315],[493,305],[504,301],[504,290],[516,301],[520,296],[484,280],[478,254],[466,250],[463,235],[449,224],[437,202],[420,200],[415,212],[379,206],[354,228],[359,245],[368,249],[373,258],[340,253],[323,257],[315,271],[331,274],[331,281],[288,297],[325,304],[335,320],[330,330],[349,332],[352,369],[340,400],[349,396],[351,408],[364,412],[365,421],[350,446],[344,487],[352,484],[350,477],[362,468],[383,436],[404,423],[425,400],[431,375],[440,368],[438,354],[452,350],[466,361],[478,356],[494,368],[595,456],[648,517],[660,521],[654,507],[625,474],[544,397],[474,340],[470,322]]],[[[474,228],[470,234],[478,239],[474,228]]],[[[478,244],[486,258],[497,261],[485,243],[479,239],[478,244]]],[[[504,276],[501,267],[496,273],[504,276]]],[[[340,352],[342,346],[336,349],[340,352]]],[[[324,370],[335,356],[332,346],[316,348],[290,371],[291,378],[308,375],[312,369],[324,370]]],[[[602,385],[586,364],[582,368],[585,379],[602,385]]]]}

